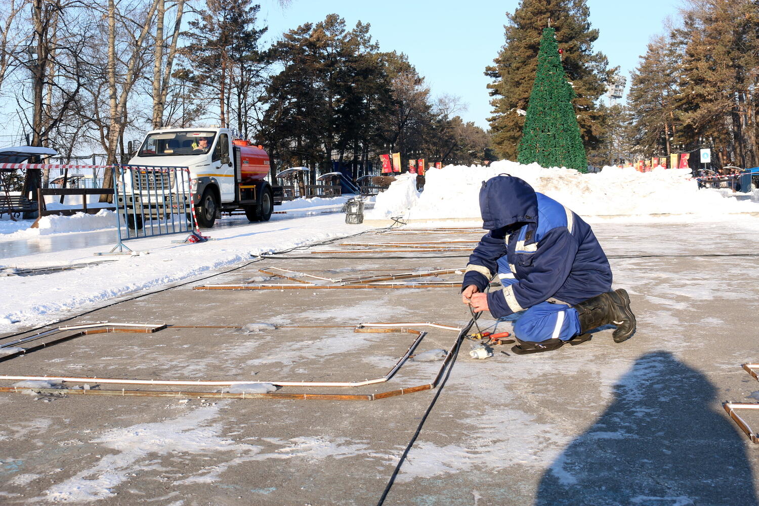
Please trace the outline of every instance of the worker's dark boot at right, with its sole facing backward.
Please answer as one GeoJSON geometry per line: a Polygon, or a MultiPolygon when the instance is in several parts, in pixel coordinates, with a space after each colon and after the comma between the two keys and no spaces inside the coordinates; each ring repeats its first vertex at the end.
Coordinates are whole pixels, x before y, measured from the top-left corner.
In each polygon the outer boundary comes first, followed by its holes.
{"type": "Polygon", "coordinates": [[[635,333],[635,315],[630,309],[630,297],[623,288],[583,300],[574,307],[580,318],[581,334],[601,325],[616,325],[613,338],[621,343],[635,333]]]}

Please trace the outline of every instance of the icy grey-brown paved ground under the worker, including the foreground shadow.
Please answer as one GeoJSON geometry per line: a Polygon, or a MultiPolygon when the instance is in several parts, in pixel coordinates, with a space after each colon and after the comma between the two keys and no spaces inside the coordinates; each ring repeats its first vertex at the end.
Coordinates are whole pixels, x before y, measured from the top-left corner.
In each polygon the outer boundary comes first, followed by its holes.
{"type": "MultiPolygon", "coordinates": [[[[759,359],[757,218],[593,227],[615,288],[631,296],[635,336],[615,344],[612,331],[602,330],[584,344],[527,356],[502,346],[487,360],[468,357],[465,341],[385,504],[757,504],[756,445],[722,407],[723,401],[759,397],[759,384],[741,369],[759,359]]],[[[352,327],[460,327],[470,316],[458,289],[193,288],[266,283],[272,280],[259,269],[272,267],[330,279],[461,269],[466,252],[453,247],[474,243],[416,253],[380,244],[477,238],[476,231],[369,232],[264,259],[65,324],[174,326],[154,334],[85,335],[5,360],[0,374],[375,378],[402,357],[413,336],[354,333],[352,327]],[[361,253],[313,253],[335,250],[361,253]],[[249,334],[235,328],[251,322],[278,328],[249,334]]],[[[460,278],[454,273],[416,281],[460,278]]],[[[77,313],[57,311],[55,316],[77,313]]],[[[480,319],[483,328],[493,324],[488,316],[480,319]]],[[[510,330],[511,322],[496,328],[510,330]]],[[[448,349],[455,337],[430,329],[414,353],[448,349]]],[[[277,392],[376,394],[430,382],[440,364],[408,360],[380,385],[285,386],[277,392]]],[[[91,382],[90,388],[114,387],[91,382]]],[[[435,394],[323,401],[2,393],[0,502],[376,504],[435,394]]],[[[745,417],[759,428],[759,416],[745,417]]]]}

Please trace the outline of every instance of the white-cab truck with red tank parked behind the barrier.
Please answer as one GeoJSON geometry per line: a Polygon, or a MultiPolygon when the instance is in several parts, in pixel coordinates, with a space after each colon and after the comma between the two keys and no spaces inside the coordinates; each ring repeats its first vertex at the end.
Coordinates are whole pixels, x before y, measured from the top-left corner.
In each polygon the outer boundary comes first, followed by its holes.
{"type": "Polygon", "coordinates": [[[228,128],[150,131],[129,165],[189,169],[188,183],[182,182],[192,196],[198,223],[206,228],[222,211],[235,209],[243,209],[250,222],[268,221],[272,206],[282,203],[281,187],[265,180],[269,155],[262,146],[236,139],[228,128]]]}

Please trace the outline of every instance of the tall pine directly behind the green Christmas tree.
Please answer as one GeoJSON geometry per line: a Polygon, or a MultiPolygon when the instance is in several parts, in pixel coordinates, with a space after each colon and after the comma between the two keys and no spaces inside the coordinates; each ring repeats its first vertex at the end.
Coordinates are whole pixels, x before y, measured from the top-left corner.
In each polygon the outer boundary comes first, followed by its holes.
{"type": "Polygon", "coordinates": [[[575,88],[573,102],[583,143],[587,149],[599,145],[604,132],[596,101],[615,69],[607,70],[606,56],[593,52],[598,30],[591,30],[589,15],[586,0],[521,0],[514,14],[506,14],[505,45],[485,71],[493,79],[487,86],[493,97],[493,116],[488,121],[499,156],[516,158],[524,126],[520,111],[528,106],[540,32],[549,25],[556,29],[556,41],[564,53],[562,64],[575,88]]]}

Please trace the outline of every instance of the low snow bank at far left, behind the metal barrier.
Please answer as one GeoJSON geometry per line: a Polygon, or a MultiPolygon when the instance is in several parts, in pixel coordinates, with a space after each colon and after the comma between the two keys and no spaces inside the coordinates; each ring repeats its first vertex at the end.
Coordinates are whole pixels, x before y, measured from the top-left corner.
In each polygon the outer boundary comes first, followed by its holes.
{"type": "Polygon", "coordinates": [[[38,228],[30,228],[34,220],[0,221],[0,239],[28,239],[40,235],[65,234],[68,232],[89,232],[104,228],[115,228],[116,213],[102,209],[96,215],[77,212],[71,216],[43,216],[38,228]]]}

